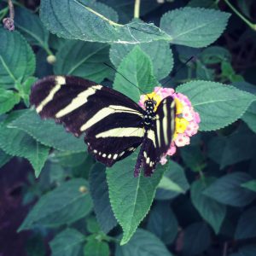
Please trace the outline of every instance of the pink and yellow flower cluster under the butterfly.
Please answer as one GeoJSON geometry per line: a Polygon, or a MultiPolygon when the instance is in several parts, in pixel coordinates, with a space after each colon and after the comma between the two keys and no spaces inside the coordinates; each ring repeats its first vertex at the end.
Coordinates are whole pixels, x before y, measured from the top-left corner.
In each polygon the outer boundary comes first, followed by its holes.
{"type": "Polygon", "coordinates": [[[170,148],[160,160],[162,165],[166,164],[166,155],[175,154],[177,147],[189,145],[190,137],[197,133],[201,122],[200,115],[195,112],[189,98],[182,93],[176,93],[172,88],[155,87],[151,94],[141,96],[139,105],[144,108],[144,102],[151,98],[156,102],[155,108],[157,108],[166,96],[172,96],[176,103],[176,118],[173,140],[170,148]]]}

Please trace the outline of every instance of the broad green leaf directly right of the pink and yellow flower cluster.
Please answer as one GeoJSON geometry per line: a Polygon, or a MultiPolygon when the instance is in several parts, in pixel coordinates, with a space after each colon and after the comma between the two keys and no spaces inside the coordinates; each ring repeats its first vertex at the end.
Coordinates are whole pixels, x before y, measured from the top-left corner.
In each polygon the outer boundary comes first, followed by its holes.
{"type": "Polygon", "coordinates": [[[192,81],[177,87],[189,97],[195,111],[200,113],[201,131],[213,131],[241,118],[255,101],[255,96],[235,87],[209,81],[192,81]]]}

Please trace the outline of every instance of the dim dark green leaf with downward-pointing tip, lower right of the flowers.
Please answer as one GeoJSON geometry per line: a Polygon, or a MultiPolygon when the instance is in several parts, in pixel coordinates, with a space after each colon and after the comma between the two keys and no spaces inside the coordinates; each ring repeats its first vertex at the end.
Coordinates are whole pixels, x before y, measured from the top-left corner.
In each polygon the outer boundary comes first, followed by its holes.
{"type": "Polygon", "coordinates": [[[226,207],[206,195],[203,195],[205,189],[207,189],[207,184],[203,183],[201,180],[192,183],[190,189],[191,201],[201,217],[204,218],[207,223],[212,226],[215,233],[218,234],[226,215],[226,207]]]}

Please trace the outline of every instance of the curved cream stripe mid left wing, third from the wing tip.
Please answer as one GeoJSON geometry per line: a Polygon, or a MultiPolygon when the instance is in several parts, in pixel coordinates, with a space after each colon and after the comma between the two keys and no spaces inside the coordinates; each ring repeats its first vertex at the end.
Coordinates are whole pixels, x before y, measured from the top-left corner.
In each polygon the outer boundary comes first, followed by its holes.
{"type": "Polygon", "coordinates": [[[90,128],[92,125],[95,125],[98,121],[106,118],[108,115],[112,113],[134,113],[143,117],[142,113],[136,112],[132,108],[126,108],[118,105],[110,105],[108,108],[102,108],[98,111],[94,116],[92,116],[84,125],[81,126],[80,131],[85,131],[90,128]]]}

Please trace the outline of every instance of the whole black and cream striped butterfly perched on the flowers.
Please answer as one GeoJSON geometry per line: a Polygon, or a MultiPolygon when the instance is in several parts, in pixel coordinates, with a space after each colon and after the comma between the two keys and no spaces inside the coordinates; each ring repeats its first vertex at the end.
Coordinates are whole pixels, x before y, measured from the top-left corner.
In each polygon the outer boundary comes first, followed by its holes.
{"type": "Polygon", "coordinates": [[[145,110],[129,97],[101,84],[71,76],[49,76],[32,87],[30,102],[39,115],[62,123],[84,142],[96,160],[113,166],[142,145],[134,176],[140,169],[150,176],[165,154],[175,130],[175,102],[163,99],[155,110],[153,99],[145,110]]]}

